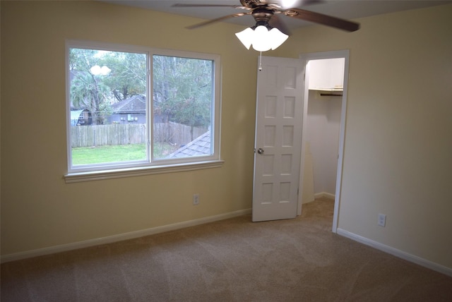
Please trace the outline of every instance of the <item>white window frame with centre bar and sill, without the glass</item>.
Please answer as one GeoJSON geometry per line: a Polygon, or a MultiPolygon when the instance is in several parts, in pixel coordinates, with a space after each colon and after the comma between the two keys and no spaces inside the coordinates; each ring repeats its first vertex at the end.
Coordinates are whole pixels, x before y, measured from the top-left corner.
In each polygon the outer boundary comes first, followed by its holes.
{"type": "Polygon", "coordinates": [[[90,42],[80,40],[66,41],[66,138],[67,138],[67,161],[68,173],[64,175],[66,183],[93,181],[99,179],[115,179],[128,176],[142,176],[147,174],[160,174],[175,171],[191,171],[196,169],[208,169],[222,167],[223,161],[220,159],[220,110],[221,110],[221,62],[218,54],[204,54],[198,52],[186,52],[171,49],[156,49],[150,47],[137,47],[126,44],[110,44],[101,42],[90,42]],[[71,154],[71,98],[70,98],[70,77],[69,77],[69,49],[87,48],[99,49],[114,52],[137,52],[148,56],[148,89],[146,101],[148,106],[146,116],[148,116],[147,133],[148,149],[146,159],[136,162],[106,163],[87,166],[73,166],[71,154]],[[153,55],[178,56],[190,59],[206,59],[213,61],[213,106],[210,128],[212,135],[211,144],[213,154],[199,157],[184,157],[177,159],[153,159],[151,158],[150,144],[153,142],[153,55]]]}

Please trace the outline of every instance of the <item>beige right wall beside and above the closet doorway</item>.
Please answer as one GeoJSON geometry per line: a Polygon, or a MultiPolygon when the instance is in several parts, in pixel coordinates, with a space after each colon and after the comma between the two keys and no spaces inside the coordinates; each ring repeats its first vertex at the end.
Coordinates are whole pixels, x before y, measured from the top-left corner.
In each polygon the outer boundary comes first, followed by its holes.
{"type": "Polygon", "coordinates": [[[353,33],[315,26],[280,50],[350,49],[339,229],[448,268],[451,16],[446,5],[363,18],[353,33]]]}

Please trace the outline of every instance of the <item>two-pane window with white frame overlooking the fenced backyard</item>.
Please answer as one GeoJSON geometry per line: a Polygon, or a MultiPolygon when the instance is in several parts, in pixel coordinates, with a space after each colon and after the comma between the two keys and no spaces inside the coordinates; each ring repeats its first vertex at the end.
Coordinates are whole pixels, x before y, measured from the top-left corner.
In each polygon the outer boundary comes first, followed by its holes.
{"type": "Polygon", "coordinates": [[[220,160],[218,55],[91,42],[66,52],[66,181],[220,160]]]}

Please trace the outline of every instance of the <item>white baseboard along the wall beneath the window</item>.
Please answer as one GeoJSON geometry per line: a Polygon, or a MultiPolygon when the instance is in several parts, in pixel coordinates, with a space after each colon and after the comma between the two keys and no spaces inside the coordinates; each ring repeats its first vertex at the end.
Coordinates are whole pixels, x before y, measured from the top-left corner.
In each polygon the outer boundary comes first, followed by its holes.
{"type": "Polygon", "coordinates": [[[117,241],[124,241],[133,238],[139,238],[143,236],[149,236],[153,234],[164,233],[165,231],[174,231],[176,229],[184,229],[186,227],[194,227],[199,224],[206,224],[209,222],[216,222],[223,219],[238,217],[242,215],[251,214],[251,209],[239,210],[235,212],[229,212],[220,215],[214,215],[210,217],[203,217],[200,219],[189,220],[186,222],[178,222],[176,224],[167,224],[162,227],[153,227],[150,229],[143,229],[140,231],[131,231],[129,233],[117,234],[102,238],[89,239],[85,241],[79,241],[74,243],[62,244],[60,246],[50,246],[49,248],[39,248],[37,250],[28,250],[20,253],[13,253],[1,256],[1,263],[21,260],[25,258],[32,258],[42,255],[50,255],[54,253],[66,252],[68,250],[76,250],[78,248],[88,248],[90,246],[99,246],[101,244],[113,243],[117,241]]]}

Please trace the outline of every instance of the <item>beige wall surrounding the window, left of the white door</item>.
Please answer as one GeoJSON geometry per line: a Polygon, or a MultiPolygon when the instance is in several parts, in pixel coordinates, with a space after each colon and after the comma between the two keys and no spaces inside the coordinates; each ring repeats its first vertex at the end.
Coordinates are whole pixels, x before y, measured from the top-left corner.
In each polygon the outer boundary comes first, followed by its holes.
{"type": "Polygon", "coordinates": [[[1,255],[251,208],[257,54],[231,35],[239,26],[184,30],[198,21],[89,1],[1,1],[1,255]],[[66,184],[66,39],[220,54],[224,166],[66,184]]]}

